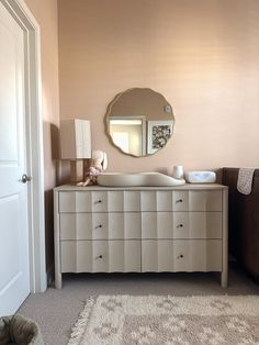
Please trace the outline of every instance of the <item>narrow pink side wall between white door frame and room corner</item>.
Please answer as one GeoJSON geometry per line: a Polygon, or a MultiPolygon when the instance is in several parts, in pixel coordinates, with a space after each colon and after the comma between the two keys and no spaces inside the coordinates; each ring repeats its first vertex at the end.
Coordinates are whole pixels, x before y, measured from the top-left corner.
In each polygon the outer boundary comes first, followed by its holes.
{"type": "Polygon", "coordinates": [[[57,0],[25,0],[41,26],[47,270],[53,270],[53,187],[59,127],[57,0]]]}

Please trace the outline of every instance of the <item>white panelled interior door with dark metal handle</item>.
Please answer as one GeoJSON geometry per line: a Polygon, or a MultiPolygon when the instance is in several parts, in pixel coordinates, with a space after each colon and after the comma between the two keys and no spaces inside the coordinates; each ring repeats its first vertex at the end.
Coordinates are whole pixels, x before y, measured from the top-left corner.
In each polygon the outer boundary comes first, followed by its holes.
{"type": "Polygon", "coordinates": [[[0,2],[0,316],[30,293],[24,34],[0,2]]]}

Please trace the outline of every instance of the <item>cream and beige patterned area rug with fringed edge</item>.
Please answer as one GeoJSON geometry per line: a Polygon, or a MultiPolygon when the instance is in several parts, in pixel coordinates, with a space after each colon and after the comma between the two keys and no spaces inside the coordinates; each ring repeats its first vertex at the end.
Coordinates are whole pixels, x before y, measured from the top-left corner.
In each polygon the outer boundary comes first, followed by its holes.
{"type": "Polygon", "coordinates": [[[69,345],[259,345],[258,296],[99,296],[69,345]]]}

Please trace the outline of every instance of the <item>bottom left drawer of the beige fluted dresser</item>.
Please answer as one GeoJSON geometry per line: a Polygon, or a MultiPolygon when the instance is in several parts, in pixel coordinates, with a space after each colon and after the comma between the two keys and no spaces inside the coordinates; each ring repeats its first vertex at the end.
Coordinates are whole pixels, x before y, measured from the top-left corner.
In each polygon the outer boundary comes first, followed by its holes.
{"type": "Polygon", "coordinates": [[[61,241],[61,272],[140,271],[140,241],[61,241]]]}

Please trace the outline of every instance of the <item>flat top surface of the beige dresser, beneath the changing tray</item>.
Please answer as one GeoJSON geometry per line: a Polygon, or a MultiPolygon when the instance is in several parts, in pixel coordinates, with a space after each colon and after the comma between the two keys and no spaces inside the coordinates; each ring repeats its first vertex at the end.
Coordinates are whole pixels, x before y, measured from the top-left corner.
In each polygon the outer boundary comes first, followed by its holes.
{"type": "Polygon", "coordinates": [[[55,191],[104,191],[104,190],[223,190],[228,189],[227,186],[218,183],[185,183],[178,187],[103,187],[103,186],[87,186],[78,187],[72,185],[63,185],[54,188],[55,191]]]}

